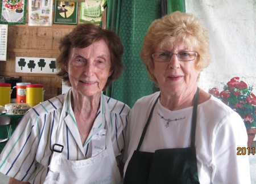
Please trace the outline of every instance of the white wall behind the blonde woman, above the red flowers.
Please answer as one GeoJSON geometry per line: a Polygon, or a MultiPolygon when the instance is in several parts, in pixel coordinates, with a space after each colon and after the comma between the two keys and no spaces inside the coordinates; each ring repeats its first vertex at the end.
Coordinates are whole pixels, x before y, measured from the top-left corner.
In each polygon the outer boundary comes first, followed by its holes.
{"type": "Polygon", "coordinates": [[[256,0],[185,0],[186,12],[208,30],[212,63],[201,72],[199,86],[222,89],[234,76],[256,94],[256,0]]]}

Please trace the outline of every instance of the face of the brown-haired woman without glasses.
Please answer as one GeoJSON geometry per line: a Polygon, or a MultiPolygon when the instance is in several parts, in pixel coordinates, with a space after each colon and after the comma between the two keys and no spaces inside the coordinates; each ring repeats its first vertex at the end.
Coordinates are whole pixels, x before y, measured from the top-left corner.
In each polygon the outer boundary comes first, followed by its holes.
{"type": "Polygon", "coordinates": [[[112,74],[110,67],[108,45],[100,40],[86,48],[72,48],[66,71],[73,90],[83,96],[93,96],[105,87],[112,74]]]}

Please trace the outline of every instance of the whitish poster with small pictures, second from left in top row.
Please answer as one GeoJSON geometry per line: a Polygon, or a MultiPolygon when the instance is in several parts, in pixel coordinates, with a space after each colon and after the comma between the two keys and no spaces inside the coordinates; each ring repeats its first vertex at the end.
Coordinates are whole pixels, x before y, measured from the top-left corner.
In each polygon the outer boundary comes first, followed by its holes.
{"type": "Polygon", "coordinates": [[[29,0],[28,25],[52,25],[52,0],[29,0]]]}

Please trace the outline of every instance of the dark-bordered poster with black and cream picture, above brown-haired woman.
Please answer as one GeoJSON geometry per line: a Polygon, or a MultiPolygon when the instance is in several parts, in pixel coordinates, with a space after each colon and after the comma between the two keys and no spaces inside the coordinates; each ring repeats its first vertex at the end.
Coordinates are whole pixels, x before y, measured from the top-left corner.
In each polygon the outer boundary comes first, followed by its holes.
{"type": "Polygon", "coordinates": [[[77,24],[77,2],[55,0],[54,23],[77,24]]]}

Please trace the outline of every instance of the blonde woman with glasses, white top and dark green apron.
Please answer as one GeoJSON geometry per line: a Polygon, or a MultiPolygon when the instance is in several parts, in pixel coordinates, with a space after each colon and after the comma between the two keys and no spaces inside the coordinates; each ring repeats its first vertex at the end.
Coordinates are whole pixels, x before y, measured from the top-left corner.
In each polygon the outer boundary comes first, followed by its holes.
{"type": "Polygon", "coordinates": [[[142,97],[127,123],[124,183],[250,183],[245,125],[197,87],[209,65],[209,38],[195,16],[155,20],[141,58],[160,92],[142,97]]]}

